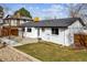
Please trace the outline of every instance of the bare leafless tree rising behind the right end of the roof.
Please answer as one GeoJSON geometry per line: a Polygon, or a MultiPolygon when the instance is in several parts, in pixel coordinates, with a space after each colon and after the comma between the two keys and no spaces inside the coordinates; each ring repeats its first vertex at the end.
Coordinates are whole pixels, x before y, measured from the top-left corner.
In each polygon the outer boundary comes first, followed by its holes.
{"type": "Polygon", "coordinates": [[[80,18],[87,24],[87,3],[70,3],[68,11],[70,18],[80,18]]]}

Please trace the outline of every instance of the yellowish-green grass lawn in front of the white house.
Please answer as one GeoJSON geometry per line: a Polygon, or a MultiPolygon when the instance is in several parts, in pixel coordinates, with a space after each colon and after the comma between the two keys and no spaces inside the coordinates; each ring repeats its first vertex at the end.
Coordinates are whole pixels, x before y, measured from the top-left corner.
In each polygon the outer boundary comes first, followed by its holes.
{"type": "Polygon", "coordinates": [[[87,61],[86,50],[73,50],[70,47],[61,47],[61,45],[42,42],[32,43],[15,48],[36,57],[43,62],[83,62],[87,61]]]}

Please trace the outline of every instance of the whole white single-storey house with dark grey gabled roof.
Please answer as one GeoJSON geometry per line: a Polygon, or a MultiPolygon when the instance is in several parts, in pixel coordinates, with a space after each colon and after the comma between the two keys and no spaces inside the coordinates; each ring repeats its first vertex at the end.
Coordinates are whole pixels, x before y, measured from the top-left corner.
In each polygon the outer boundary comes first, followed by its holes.
{"type": "Polygon", "coordinates": [[[74,43],[74,33],[79,33],[84,22],[79,18],[42,20],[21,25],[24,37],[42,39],[63,45],[74,43]]]}

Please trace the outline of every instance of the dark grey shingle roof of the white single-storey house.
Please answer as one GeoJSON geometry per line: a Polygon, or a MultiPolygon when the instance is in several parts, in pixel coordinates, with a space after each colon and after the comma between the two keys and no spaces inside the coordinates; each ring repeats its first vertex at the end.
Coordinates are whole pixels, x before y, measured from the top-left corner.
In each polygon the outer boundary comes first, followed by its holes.
{"type": "Polygon", "coordinates": [[[66,18],[66,19],[53,19],[53,20],[42,20],[39,22],[28,22],[23,23],[21,26],[58,26],[58,28],[67,28],[72,23],[74,23],[76,20],[79,20],[79,22],[84,24],[83,20],[80,18],[66,18]]]}

